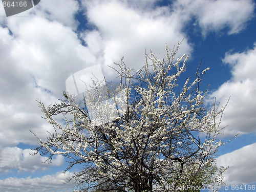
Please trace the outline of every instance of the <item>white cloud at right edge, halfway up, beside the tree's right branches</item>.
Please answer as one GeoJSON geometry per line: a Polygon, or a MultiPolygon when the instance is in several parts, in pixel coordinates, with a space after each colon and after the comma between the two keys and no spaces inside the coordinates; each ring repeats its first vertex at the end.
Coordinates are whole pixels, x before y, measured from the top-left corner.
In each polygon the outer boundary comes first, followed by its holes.
{"type": "Polygon", "coordinates": [[[231,67],[232,78],[212,92],[209,98],[217,97],[225,105],[230,96],[222,119],[222,125],[228,127],[223,133],[235,135],[255,132],[256,43],[253,49],[242,53],[227,52],[223,62],[231,67]]]}

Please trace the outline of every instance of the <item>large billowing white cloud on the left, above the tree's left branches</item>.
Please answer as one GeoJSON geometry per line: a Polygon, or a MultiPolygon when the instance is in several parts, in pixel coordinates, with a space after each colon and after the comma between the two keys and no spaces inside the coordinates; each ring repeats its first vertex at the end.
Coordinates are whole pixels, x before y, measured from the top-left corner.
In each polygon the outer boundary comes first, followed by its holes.
{"type": "Polygon", "coordinates": [[[36,144],[29,130],[45,137],[51,128],[41,119],[36,99],[46,106],[56,102],[71,73],[93,65],[96,57],[80,45],[75,32],[58,22],[33,16],[11,27],[16,35],[0,29],[0,144],[36,144]]]}

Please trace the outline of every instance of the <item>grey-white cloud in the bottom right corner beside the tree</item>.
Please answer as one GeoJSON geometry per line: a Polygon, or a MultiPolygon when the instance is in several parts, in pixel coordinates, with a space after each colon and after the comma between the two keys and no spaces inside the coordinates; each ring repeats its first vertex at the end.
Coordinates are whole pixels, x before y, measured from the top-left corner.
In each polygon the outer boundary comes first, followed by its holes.
{"type": "Polygon", "coordinates": [[[217,166],[229,166],[224,173],[224,182],[231,184],[251,184],[256,182],[256,143],[217,158],[217,166]]]}

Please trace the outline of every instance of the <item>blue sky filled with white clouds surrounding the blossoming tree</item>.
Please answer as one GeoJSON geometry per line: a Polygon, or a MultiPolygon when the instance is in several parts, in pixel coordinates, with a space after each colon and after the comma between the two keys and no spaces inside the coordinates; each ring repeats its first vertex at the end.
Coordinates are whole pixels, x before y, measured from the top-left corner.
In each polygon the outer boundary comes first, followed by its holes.
{"type": "MultiPolygon", "coordinates": [[[[31,156],[47,124],[36,100],[46,105],[63,98],[72,74],[124,62],[139,69],[145,49],[163,58],[182,41],[177,57],[189,54],[186,75],[202,58],[202,90],[225,105],[223,140],[240,134],[219,150],[218,165],[229,165],[225,183],[256,183],[256,2],[252,0],[42,0],[6,17],[0,6],[0,190],[72,191],[62,184],[66,159],[51,164],[31,156]]],[[[182,80],[182,79],[181,79],[182,80]]],[[[244,190],[243,190],[244,191],[244,190]]]]}

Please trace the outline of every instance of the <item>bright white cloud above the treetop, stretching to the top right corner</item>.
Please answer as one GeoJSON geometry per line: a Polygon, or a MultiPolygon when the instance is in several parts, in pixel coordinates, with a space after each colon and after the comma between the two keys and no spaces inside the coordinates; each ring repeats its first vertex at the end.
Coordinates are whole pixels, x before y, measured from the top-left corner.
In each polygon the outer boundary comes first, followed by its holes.
{"type": "MultiPolygon", "coordinates": [[[[155,7],[156,1],[82,1],[86,16],[103,39],[104,66],[124,62],[138,69],[144,63],[144,49],[164,57],[164,45],[170,47],[183,40],[179,54],[190,54],[184,27],[196,18],[203,35],[229,27],[229,34],[238,33],[252,17],[252,1],[176,1],[172,7],[155,7]]],[[[197,26],[197,25],[196,25],[197,26]]],[[[195,26],[195,27],[196,27],[195,26]]],[[[104,68],[106,70],[106,68],[104,68]]],[[[108,70],[112,76],[112,71],[108,70]]]]}

